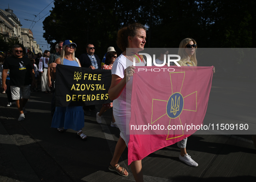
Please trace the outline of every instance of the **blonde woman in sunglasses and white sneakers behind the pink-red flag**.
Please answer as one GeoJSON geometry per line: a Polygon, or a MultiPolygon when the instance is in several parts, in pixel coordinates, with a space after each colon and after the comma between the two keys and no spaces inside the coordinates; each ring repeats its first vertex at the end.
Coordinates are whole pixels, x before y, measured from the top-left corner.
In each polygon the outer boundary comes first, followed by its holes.
{"type": "MultiPolygon", "coordinates": [[[[178,55],[181,56],[181,60],[178,61],[180,66],[198,66],[198,61],[196,59],[196,49],[197,43],[192,38],[185,38],[181,41],[178,49],[178,55]]],[[[213,72],[215,73],[215,67],[213,68],[213,72]]],[[[177,143],[178,147],[181,150],[179,155],[179,159],[189,166],[196,167],[198,163],[196,163],[191,156],[188,155],[186,151],[186,144],[188,138],[184,138],[183,140],[177,143]]]]}

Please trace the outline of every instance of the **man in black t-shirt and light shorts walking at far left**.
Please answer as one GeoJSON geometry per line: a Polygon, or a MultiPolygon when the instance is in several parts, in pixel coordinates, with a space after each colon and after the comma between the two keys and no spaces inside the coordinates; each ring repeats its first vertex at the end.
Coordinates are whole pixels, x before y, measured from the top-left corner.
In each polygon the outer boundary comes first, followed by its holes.
{"type": "Polygon", "coordinates": [[[3,90],[6,90],[6,76],[10,69],[10,87],[12,99],[16,101],[19,110],[19,121],[24,120],[26,113],[25,104],[30,97],[30,75],[32,85],[35,84],[35,72],[29,58],[22,56],[22,48],[19,45],[13,46],[13,56],[6,58],[3,63],[3,90]]]}

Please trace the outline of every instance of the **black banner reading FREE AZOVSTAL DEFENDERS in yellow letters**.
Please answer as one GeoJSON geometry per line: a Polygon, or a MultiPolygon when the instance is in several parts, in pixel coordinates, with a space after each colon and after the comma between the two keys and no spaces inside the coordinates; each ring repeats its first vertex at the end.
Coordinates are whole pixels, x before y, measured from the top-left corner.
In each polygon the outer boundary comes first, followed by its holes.
{"type": "Polygon", "coordinates": [[[111,70],[75,66],[56,66],[55,97],[57,107],[106,104],[111,70]]]}

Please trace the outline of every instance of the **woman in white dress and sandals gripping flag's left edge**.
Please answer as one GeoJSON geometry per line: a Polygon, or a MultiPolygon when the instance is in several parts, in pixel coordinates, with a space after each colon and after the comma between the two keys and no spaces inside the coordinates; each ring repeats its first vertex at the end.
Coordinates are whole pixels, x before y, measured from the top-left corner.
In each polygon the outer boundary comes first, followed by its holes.
{"type": "MultiPolygon", "coordinates": [[[[146,43],[146,28],[140,24],[132,24],[118,31],[117,45],[123,53],[113,63],[112,81],[108,91],[109,97],[113,100],[113,115],[116,125],[120,129],[120,138],[117,142],[109,170],[117,172],[121,176],[128,176],[126,169],[118,164],[128,142],[130,135],[126,134],[126,120],[130,120],[130,96],[133,80],[133,58],[140,50],[144,49],[146,43]],[[129,48],[126,51],[126,48],[129,48]]],[[[138,57],[138,54],[137,54],[138,57]]],[[[145,60],[136,59],[136,66],[145,66],[145,60]]],[[[143,182],[141,160],[131,163],[131,169],[136,182],[143,182]]]]}

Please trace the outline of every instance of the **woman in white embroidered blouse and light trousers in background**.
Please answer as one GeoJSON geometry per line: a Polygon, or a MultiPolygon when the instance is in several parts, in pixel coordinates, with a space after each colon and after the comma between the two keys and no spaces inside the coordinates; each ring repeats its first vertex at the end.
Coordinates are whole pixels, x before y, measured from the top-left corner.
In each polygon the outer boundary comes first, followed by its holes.
{"type": "Polygon", "coordinates": [[[44,56],[42,56],[39,60],[39,69],[38,69],[38,71],[41,72],[41,90],[44,91],[45,93],[49,93],[51,91],[47,83],[49,56],[50,56],[50,51],[45,50],[44,56]]]}

